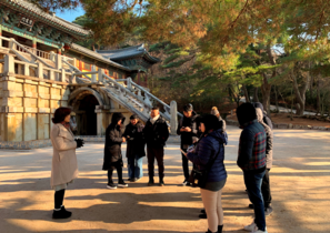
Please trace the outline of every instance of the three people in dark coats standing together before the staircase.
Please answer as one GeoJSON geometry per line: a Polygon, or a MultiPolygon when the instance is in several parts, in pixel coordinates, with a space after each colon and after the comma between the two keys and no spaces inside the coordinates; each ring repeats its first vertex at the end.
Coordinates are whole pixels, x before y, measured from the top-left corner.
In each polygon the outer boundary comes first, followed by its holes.
{"type": "Polygon", "coordinates": [[[159,185],[163,186],[164,176],[164,145],[169,138],[169,129],[164,119],[160,115],[158,108],[152,108],[150,119],[143,125],[136,114],[130,116],[130,123],[123,131],[124,116],[121,113],[113,113],[111,124],[106,131],[104,162],[103,170],[108,171],[108,189],[114,190],[112,173],[117,170],[118,186],[124,188],[128,184],[122,178],[123,160],[121,143],[127,142],[127,160],[129,169],[129,181],[136,182],[143,176],[142,160],[148,158],[148,185],[154,184],[154,160],[158,163],[159,185]]]}

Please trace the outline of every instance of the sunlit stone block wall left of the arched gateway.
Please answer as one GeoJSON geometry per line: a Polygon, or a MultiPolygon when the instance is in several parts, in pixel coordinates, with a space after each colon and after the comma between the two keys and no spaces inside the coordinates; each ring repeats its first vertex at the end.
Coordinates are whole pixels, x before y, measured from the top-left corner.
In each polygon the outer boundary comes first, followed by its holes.
{"type": "Polygon", "coordinates": [[[68,105],[68,83],[26,75],[0,77],[0,141],[47,140],[51,118],[68,105]]]}

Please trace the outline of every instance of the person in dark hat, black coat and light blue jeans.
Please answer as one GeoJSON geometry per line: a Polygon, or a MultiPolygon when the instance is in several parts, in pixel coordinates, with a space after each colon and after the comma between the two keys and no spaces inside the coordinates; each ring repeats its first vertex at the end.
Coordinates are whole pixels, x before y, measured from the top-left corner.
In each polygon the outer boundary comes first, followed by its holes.
{"type": "Polygon", "coordinates": [[[126,126],[122,136],[127,139],[126,156],[128,159],[129,181],[136,182],[143,176],[143,156],[146,156],[146,141],[143,138],[144,125],[137,114],[130,116],[130,123],[126,126]]]}

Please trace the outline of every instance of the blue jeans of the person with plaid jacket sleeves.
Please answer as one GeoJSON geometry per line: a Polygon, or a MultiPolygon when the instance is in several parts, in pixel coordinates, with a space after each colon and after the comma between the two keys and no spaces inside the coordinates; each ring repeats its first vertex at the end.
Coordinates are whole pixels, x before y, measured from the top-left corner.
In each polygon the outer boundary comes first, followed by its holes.
{"type": "Polygon", "coordinates": [[[264,217],[264,204],[261,193],[261,183],[266,171],[254,173],[251,171],[244,171],[244,183],[248,190],[249,199],[254,205],[254,223],[258,229],[264,231],[266,217],[264,217]]]}

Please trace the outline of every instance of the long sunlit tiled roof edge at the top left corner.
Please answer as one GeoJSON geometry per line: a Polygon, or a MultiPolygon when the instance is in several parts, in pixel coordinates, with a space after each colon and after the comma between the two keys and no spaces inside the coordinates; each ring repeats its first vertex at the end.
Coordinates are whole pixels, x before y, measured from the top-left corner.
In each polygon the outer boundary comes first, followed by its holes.
{"type": "MultiPolygon", "coordinates": [[[[36,4],[28,2],[26,0],[3,0],[1,1],[2,3],[7,4],[8,7],[11,7],[13,9],[20,10],[21,12],[29,12],[29,13],[33,13],[37,16],[40,16],[43,18],[44,21],[47,21],[48,23],[56,23],[69,31],[73,31],[76,33],[79,34],[83,34],[83,36],[89,36],[92,32],[90,30],[86,30],[83,29],[81,26],[78,26],[76,23],[72,22],[68,22],[54,14],[50,14],[48,12],[44,12],[43,10],[41,10],[40,8],[38,8],[36,4]]],[[[50,23],[50,24],[51,24],[50,23]]]]}

